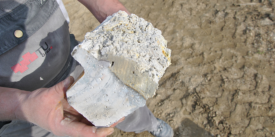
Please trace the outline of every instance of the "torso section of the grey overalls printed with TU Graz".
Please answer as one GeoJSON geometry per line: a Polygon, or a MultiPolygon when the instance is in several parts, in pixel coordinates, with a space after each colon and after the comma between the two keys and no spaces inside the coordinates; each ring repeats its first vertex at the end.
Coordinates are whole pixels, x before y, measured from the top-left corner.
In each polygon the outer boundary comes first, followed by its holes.
{"type": "Polygon", "coordinates": [[[33,91],[68,77],[77,41],[69,34],[59,4],[55,0],[0,3],[0,86],[33,91]]]}

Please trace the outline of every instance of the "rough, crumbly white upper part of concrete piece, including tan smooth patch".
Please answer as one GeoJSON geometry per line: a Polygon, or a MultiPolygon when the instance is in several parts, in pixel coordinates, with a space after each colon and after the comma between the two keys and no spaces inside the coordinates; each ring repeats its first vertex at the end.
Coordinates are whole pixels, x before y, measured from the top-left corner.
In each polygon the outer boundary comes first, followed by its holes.
{"type": "Polygon", "coordinates": [[[161,31],[124,11],[106,18],[80,45],[95,58],[109,60],[111,71],[146,99],[155,95],[158,81],[171,64],[171,50],[161,31]]]}

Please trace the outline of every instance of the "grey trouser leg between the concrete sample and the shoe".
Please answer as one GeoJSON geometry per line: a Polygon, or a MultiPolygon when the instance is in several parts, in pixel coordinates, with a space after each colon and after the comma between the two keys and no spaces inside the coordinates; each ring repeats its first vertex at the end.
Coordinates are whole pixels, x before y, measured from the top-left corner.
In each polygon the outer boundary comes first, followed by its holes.
{"type": "Polygon", "coordinates": [[[157,118],[145,105],[126,116],[125,120],[119,123],[116,128],[125,132],[140,133],[151,129],[153,123],[156,122],[157,118]]]}

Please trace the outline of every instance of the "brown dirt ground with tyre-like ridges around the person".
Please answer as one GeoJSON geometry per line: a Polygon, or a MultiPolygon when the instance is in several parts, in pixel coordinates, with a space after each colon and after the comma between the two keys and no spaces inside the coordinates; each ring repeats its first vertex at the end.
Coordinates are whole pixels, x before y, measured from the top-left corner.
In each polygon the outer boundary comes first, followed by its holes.
{"type": "MultiPolygon", "coordinates": [[[[64,0],[82,41],[99,25],[64,0]]],[[[147,105],[175,137],[275,136],[275,1],[121,0],[162,31],[172,65],[147,105]]],[[[152,137],[115,129],[111,137],[152,137]]]]}

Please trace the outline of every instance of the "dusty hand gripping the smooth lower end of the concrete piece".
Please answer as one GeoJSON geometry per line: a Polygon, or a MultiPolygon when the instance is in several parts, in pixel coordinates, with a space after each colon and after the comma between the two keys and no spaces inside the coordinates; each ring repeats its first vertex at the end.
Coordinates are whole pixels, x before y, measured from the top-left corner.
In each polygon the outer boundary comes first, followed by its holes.
{"type": "Polygon", "coordinates": [[[73,82],[74,78],[68,77],[51,88],[26,91],[20,101],[21,105],[16,109],[16,117],[39,125],[58,136],[105,137],[113,133],[113,127],[124,118],[111,127],[95,127],[66,100],[66,91],[73,82]]]}

